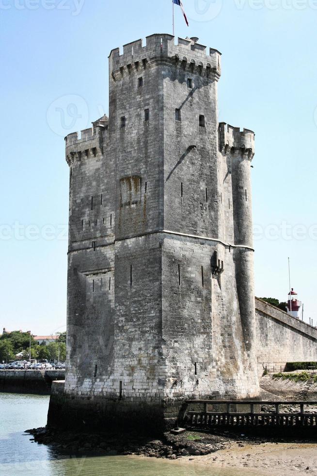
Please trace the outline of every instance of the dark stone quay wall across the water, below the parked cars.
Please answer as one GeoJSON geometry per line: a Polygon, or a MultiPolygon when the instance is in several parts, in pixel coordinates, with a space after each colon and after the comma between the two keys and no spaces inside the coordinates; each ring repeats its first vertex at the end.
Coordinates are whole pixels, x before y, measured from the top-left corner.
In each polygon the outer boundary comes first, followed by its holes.
{"type": "Polygon", "coordinates": [[[64,370],[0,370],[0,392],[49,395],[52,381],[64,378],[64,370]]]}

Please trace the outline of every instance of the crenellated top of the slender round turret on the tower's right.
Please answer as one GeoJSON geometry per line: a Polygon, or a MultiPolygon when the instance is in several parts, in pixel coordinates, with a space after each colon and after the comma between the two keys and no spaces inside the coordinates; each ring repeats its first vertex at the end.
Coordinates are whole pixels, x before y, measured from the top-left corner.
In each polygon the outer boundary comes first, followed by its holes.
{"type": "Polygon", "coordinates": [[[232,150],[248,153],[252,160],[254,156],[254,132],[250,129],[240,131],[239,127],[233,127],[226,122],[220,122],[218,128],[219,149],[228,154],[232,150]]]}

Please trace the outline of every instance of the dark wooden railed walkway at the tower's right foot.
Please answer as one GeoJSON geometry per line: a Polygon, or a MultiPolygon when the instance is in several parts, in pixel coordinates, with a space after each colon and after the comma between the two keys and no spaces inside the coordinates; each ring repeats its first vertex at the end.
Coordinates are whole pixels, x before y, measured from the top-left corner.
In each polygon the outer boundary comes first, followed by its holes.
{"type": "Polygon", "coordinates": [[[234,400],[187,400],[187,425],[199,428],[214,426],[301,426],[316,427],[317,413],[311,407],[317,402],[268,402],[234,400]],[[214,410],[210,406],[222,406],[214,410]],[[243,405],[239,411],[239,406],[243,405]],[[283,406],[298,407],[298,411],[285,412],[283,406]],[[200,408],[191,409],[199,406],[200,408]],[[271,412],[261,411],[261,407],[272,406],[271,412]],[[259,411],[260,410],[260,411],[259,411]]]}

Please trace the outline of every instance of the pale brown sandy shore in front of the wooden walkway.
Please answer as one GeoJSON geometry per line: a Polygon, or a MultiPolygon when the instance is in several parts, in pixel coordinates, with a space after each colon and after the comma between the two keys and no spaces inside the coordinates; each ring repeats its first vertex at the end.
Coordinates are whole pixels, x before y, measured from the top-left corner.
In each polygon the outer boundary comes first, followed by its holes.
{"type": "Polygon", "coordinates": [[[250,476],[317,475],[317,443],[263,443],[243,447],[235,443],[217,453],[185,457],[174,464],[185,461],[200,468],[204,465],[207,475],[212,469],[250,476]]]}

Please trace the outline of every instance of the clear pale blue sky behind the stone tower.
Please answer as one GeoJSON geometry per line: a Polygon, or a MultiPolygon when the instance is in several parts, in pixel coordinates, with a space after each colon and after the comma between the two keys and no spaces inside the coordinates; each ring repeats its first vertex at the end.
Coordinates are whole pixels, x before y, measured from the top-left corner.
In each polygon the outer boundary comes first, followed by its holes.
{"type": "MultiPolygon", "coordinates": [[[[317,1],[183,4],[190,27],[175,6],[176,35],[222,52],[219,119],[256,133],[256,295],[285,300],[290,256],[292,286],[316,323],[317,1]]],[[[63,136],[108,112],[111,49],[172,33],[171,12],[170,0],[0,0],[1,327],[64,330],[63,136]]]]}

